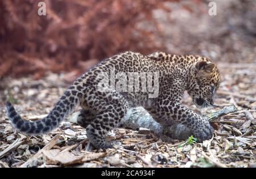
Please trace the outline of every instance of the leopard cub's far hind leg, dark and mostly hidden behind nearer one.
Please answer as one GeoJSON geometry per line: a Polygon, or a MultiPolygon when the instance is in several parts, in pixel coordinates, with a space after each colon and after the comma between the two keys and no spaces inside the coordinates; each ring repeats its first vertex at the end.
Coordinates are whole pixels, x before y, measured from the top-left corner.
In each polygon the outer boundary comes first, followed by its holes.
{"type": "Polygon", "coordinates": [[[86,128],[90,123],[95,119],[95,114],[92,113],[89,109],[81,109],[79,116],[77,117],[77,123],[86,128]]]}

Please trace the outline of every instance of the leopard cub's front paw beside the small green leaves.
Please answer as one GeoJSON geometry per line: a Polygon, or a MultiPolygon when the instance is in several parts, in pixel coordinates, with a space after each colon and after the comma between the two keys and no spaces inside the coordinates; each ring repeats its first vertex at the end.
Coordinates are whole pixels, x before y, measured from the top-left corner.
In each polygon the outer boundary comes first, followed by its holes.
{"type": "Polygon", "coordinates": [[[213,135],[213,127],[208,121],[201,121],[199,127],[193,130],[193,136],[197,138],[198,142],[209,140],[213,135]]]}

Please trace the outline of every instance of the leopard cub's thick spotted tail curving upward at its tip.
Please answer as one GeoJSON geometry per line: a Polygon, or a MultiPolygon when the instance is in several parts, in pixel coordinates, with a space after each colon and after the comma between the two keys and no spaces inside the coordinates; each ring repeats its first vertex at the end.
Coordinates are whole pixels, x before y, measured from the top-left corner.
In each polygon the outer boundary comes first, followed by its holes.
{"type": "Polygon", "coordinates": [[[75,87],[71,86],[67,91],[65,91],[64,95],[56,103],[48,116],[35,122],[23,120],[16,112],[13,105],[10,102],[7,102],[7,116],[11,125],[16,130],[28,135],[48,133],[59,126],[65,116],[71,113],[79,103],[79,96],[77,95],[79,92],[74,89],[75,87]]]}

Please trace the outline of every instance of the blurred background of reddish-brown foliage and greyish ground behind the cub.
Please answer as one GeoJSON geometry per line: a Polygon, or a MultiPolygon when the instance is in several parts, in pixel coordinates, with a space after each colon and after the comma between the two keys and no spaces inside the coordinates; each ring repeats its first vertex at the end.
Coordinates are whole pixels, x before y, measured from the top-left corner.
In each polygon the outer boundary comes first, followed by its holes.
{"type": "MultiPolygon", "coordinates": [[[[256,62],[256,2],[216,0],[0,1],[0,78],[46,72],[80,75],[133,50],[199,54],[215,62],[256,62]]],[[[73,79],[71,78],[71,79],[73,79]]]]}

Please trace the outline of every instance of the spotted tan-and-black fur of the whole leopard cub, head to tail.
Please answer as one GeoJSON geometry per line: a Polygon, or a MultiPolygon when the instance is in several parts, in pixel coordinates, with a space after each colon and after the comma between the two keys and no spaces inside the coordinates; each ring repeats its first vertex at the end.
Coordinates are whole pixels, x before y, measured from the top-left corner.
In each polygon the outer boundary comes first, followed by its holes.
{"type": "Polygon", "coordinates": [[[213,128],[199,114],[181,105],[180,100],[187,90],[197,106],[212,105],[219,83],[217,67],[208,58],[163,52],[148,56],[125,52],[102,61],[77,78],[46,118],[35,122],[22,120],[9,102],[6,104],[7,115],[16,130],[29,135],[43,134],[59,126],[64,117],[80,105],[82,109],[77,122],[86,128],[88,138],[95,147],[108,148],[115,143],[105,139],[108,132],[118,125],[128,108],[141,105],[156,121],[163,125],[182,123],[192,130],[194,137],[203,141],[212,137],[213,128]],[[158,97],[148,98],[149,92],[142,91],[99,91],[100,74],[112,73],[110,69],[113,67],[115,73],[158,72],[158,97]]]}

